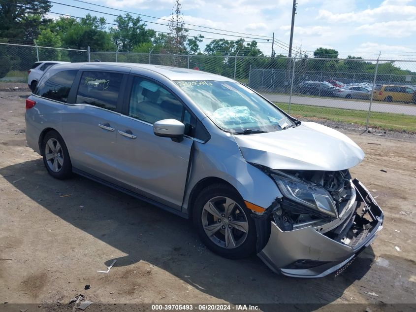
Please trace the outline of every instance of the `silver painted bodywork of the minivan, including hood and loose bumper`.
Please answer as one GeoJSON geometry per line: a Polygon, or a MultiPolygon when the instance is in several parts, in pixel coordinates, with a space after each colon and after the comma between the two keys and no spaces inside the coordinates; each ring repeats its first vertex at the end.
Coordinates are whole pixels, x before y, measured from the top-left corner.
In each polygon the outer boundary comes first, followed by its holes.
{"type": "MultiPolygon", "coordinates": [[[[192,190],[207,178],[228,182],[245,201],[266,209],[283,195],[275,181],[257,165],[276,170],[340,171],[364,158],[364,152],[347,136],[311,122],[271,133],[224,132],[173,81],[232,81],[226,77],[189,69],[123,63],[56,65],[48,74],[63,69],[114,70],[126,76],[156,80],[192,111],[210,139],[202,141],[184,136],[183,140],[174,141],[156,136],[152,124],[120,112],[32,95],[30,99],[36,104],[26,112],[28,145],[41,154],[39,140],[43,131],[54,129],[67,145],[75,172],[108,182],[185,216],[192,212],[192,190]]],[[[76,91],[72,86],[70,95],[76,91]]],[[[270,238],[259,256],[276,272],[289,276],[326,275],[354,253],[352,248],[328,239],[312,226],[288,232],[281,231],[273,222],[271,226],[270,238]],[[323,259],[336,265],[322,267],[313,274],[283,271],[284,266],[296,259],[323,259]]]]}

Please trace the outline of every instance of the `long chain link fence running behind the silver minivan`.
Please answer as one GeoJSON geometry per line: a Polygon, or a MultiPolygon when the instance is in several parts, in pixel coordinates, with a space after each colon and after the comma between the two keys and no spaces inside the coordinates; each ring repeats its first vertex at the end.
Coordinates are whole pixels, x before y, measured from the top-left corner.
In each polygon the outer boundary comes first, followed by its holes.
{"type": "Polygon", "coordinates": [[[197,69],[233,78],[301,119],[416,132],[415,61],[90,52],[0,43],[0,62],[9,68],[0,80],[25,81],[32,64],[43,60],[197,69]]]}

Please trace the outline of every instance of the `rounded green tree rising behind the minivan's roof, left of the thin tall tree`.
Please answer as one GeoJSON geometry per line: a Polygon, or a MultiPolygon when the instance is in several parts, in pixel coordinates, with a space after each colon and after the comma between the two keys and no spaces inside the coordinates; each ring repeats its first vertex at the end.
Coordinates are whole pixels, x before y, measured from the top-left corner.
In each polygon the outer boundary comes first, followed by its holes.
{"type": "Polygon", "coordinates": [[[120,15],[115,19],[117,27],[110,28],[110,34],[121,50],[130,51],[140,44],[152,42],[152,37],[156,35],[156,32],[146,29],[146,24],[140,21],[139,16],[133,18],[128,13],[124,17],[120,15]]]}

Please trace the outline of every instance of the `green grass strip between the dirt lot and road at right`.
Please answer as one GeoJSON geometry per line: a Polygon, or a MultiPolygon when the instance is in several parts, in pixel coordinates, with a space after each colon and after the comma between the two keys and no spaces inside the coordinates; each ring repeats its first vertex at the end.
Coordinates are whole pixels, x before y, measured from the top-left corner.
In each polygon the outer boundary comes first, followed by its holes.
{"type": "MultiPolygon", "coordinates": [[[[283,110],[288,111],[287,103],[275,104],[283,110]]],[[[368,112],[354,109],[291,104],[290,114],[302,117],[315,117],[344,123],[354,123],[365,126],[368,112]]],[[[382,130],[416,133],[416,116],[372,112],[370,114],[369,127],[382,130]]]]}

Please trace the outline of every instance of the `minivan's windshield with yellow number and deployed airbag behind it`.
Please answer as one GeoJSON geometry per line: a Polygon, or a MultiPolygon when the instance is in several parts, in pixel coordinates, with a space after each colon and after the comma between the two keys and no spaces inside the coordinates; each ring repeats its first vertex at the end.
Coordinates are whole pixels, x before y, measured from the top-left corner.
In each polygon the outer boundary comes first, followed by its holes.
{"type": "Polygon", "coordinates": [[[175,81],[211,120],[238,134],[272,132],[294,127],[274,105],[238,82],[175,81]]]}

